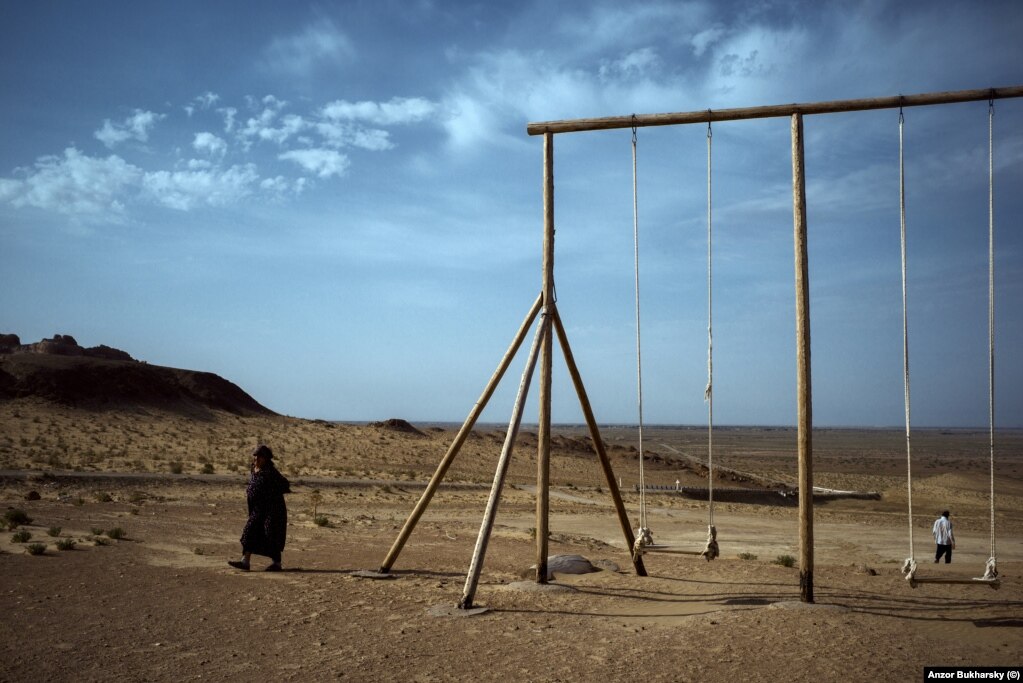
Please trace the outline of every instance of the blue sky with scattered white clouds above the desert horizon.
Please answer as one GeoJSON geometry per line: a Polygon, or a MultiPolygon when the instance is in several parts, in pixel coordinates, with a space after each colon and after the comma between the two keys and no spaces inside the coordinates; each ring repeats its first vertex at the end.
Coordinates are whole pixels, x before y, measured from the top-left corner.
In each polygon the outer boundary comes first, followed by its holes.
{"type": "MultiPolygon", "coordinates": [[[[0,331],[291,415],[460,421],[540,288],[528,122],[1020,85],[1020,35],[1013,1],[5,2],[0,331]]],[[[914,423],[984,425],[987,103],[905,115],[914,423]]],[[[903,419],[897,122],[805,122],[818,425],[903,419]]],[[[715,421],[792,424],[789,122],[713,133],[715,421]]],[[[630,137],[554,141],[559,308],[602,422],[636,419],[630,137]]],[[[701,424],[706,127],[638,150],[644,419],[701,424]]],[[[1021,426],[1021,100],[995,102],[995,173],[996,421],[1021,426]]],[[[581,421],[557,358],[554,419],[581,421]]]]}

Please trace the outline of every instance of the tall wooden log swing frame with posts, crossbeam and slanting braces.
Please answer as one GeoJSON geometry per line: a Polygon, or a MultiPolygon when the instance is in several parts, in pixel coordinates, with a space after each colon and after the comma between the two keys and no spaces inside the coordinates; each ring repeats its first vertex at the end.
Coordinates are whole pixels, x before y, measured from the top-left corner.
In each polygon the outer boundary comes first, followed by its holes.
{"type": "MultiPolygon", "coordinates": [[[[623,128],[643,128],[651,126],[676,126],[696,123],[711,123],[739,121],[749,119],[766,119],[789,117],[791,120],[792,137],[792,188],[793,188],[793,242],[795,252],[795,290],[796,290],[796,388],[797,388],[797,448],[799,459],[799,585],[800,600],[813,602],[813,458],[812,458],[812,401],[810,376],[810,309],[809,309],[809,276],[807,258],[807,222],[806,222],[806,184],[804,167],[804,136],[803,117],[819,113],[841,111],[861,111],[870,109],[886,109],[896,107],[925,106],[933,104],[949,104],[955,102],[971,102],[1004,98],[1023,97],[1023,86],[1006,88],[989,88],[981,90],[962,90],[954,92],[926,93],[919,95],[898,95],[894,97],[872,99],[849,99],[814,103],[776,104],[747,108],[701,110],[675,113],[632,115],[627,117],[609,117],[602,119],[576,119],[567,121],[549,121],[530,123],[526,132],[531,136],[543,137],[543,256],[541,291],[533,305],[525,322],[517,333],[511,346],[502,358],[497,370],[491,377],[479,401],[473,407],[447,453],[437,467],[437,471],[427,485],[409,517],[405,521],[397,539],[391,546],[380,567],[381,575],[390,573],[402,548],[408,541],[416,523],[422,516],[434,494],[441,485],[447,469],[454,460],[461,446],[472,431],[477,419],[493,396],[504,371],[510,364],[528,327],[538,312],[542,313],[541,329],[537,333],[539,347],[539,425],[537,453],[537,484],[536,484],[536,583],[547,583],[547,544],[549,531],[549,486],[550,486],[550,391],[552,363],[551,328],[557,333],[565,360],[579,397],[586,424],[589,427],[593,449],[604,470],[608,488],[615,505],[616,513],[621,523],[626,547],[632,548],[635,543],[628,515],[625,511],[610,460],[604,449],[596,420],[583,388],[582,377],[576,367],[569,347],[568,336],[554,303],[554,136],[563,133],[612,130],[623,128]],[[549,323],[548,323],[549,319],[549,323]]],[[[521,418],[521,411],[519,418],[521,418]]],[[[513,419],[515,422],[515,418],[513,419]]],[[[511,425],[509,425],[509,434],[511,425]]],[[[506,442],[507,443],[507,442],[506,442]]],[[[503,459],[503,455],[502,455],[503,459]]],[[[495,475],[494,488],[491,491],[491,501],[488,503],[488,516],[496,509],[496,501],[500,495],[500,467],[495,475]]],[[[489,537],[487,519],[480,531],[482,543],[477,543],[472,568],[466,578],[465,591],[459,602],[459,607],[473,606],[475,590],[479,573],[482,571],[483,555],[486,549],[485,537],[489,537]]],[[[633,566],[638,576],[647,576],[640,556],[633,556],[633,566]]],[[[918,582],[939,583],[934,580],[918,579],[918,582]]],[[[947,581],[946,581],[947,582],[947,581]]]]}

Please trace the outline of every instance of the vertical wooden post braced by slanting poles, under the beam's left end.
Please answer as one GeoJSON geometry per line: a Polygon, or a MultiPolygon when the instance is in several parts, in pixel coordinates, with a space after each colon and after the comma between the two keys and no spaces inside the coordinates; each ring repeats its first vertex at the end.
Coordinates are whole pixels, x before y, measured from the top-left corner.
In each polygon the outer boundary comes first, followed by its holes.
{"type": "MultiPolygon", "coordinates": [[[[554,136],[543,136],[543,313],[554,303],[554,136]]],[[[540,352],[540,418],[536,458],[536,583],[547,583],[547,534],[550,512],[550,361],[551,335],[540,352]]]]}

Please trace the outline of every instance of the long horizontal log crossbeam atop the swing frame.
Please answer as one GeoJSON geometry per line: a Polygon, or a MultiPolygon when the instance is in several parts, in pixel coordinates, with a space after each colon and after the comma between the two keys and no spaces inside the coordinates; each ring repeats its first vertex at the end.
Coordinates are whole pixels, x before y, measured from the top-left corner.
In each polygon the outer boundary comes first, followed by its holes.
{"type": "Polygon", "coordinates": [[[604,119],[571,119],[546,121],[526,125],[530,135],[544,133],[577,133],[582,131],[606,131],[616,128],[644,128],[648,126],[678,126],[701,124],[714,121],[740,121],[744,119],[770,119],[791,117],[794,113],[837,113],[839,111],[863,111],[866,109],[892,109],[899,106],[924,106],[928,104],[951,104],[953,102],[975,102],[980,100],[1023,97],[1023,86],[1008,88],[986,88],[982,90],[959,90],[954,92],[934,92],[921,95],[896,95],[895,97],[874,97],[869,99],[842,99],[831,102],[808,102],[804,104],[772,104],[750,106],[739,109],[704,109],[678,113],[636,113],[627,117],[607,117],[604,119]]]}

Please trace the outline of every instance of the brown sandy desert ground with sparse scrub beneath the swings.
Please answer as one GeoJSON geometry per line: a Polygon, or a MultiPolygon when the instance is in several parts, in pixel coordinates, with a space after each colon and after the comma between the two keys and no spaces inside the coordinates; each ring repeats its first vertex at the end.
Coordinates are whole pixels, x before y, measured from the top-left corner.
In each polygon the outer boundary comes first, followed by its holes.
{"type": "MultiPolygon", "coordinates": [[[[780,555],[799,554],[791,504],[719,502],[721,558],[649,555],[650,576],[635,576],[606,483],[593,457],[576,448],[582,432],[572,428],[559,430],[555,445],[549,550],[607,568],[537,585],[529,571],[535,440],[530,444],[526,435],[476,593],[475,603],[488,610],[464,616],[453,607],[499,434],[482,431],[466,444],[450,475],[463,486],[441,490],[395,562],[394,579],[373,581],[354,573],[380,566],[450,444],[450,429],[417,425],[420,434],[407,434],[229,417],[189,425],[173,416],[10,404],[0,406],[0,468],[7,470],[0,474],[0,507],[32,517],[19,528],[31,533],[28,543],[12,541],[13,532],[0,537],[3,681],[894,681],[920,680],[924,666],[1023,665],[1019,434],[1005,435],[998,451],[998,590],[914,589],[901,578],[909,550],[904,451],[898,452],[904,437],[901,444],[897,432],[816,437],[817,484],[881,497],[817,504],[814,604],[799,602],[798,567],[775,563],[780,555]],[[226,564],[238,551],[239,463],[253,435],[279,442],[279,466],[295,482],[281,574],[244,574],[226,564]],[[86,441],[98,455],[83,458],[76,454],[81,446],[58,445],[86,441]],[[187,448],[175,452],[181,445],[187,448]],[[46,462],[51,456],[54,465],[46,462]],[[181,463],[182,473],[168,471],[169,462],[181,463]],[[208,463],[213,473],[199,473],[208,463]],[[30,492],[40,499],[27,500],[30,492]],[[318,526],[316,516],[328,523],[318,526]],[[56,527],[57,536],[49,536],[56,527]],[[115,528],[125,538],[109,539],[115,528]],[[73,540],[75,548],[58,550],[58,539],[73,540]],[[46,544],[42,555],[27,552],[33,542],[46,544]]],[[[653,441],[670,446],[661,454],[699,458],[701,436],[664,430],[653,441]]],[[[630,485],[637,461],[625,445],[628,430],[610,429],[605,439],[636,517],[630,485]],[[622,444],[615,446],[617,440],[622,444]]],[[[983,568],[984,439],[971,432],[920,439],[914,531],[921,576],[970,578],[983,568]],[[943,506],[953,511],[959,538],[947,566],[931,563],[929,534],[943,506]]],[[[718,442],[722,465],[759,483],[795,473],[791,430],[726,430],[718,442]]],[[[647,467],[648,481],[700,481],[698,468],[685,469],[680,460],[651,459],[647,467]]],[[[722,473],[719,486],[742,479],[722,473]]],[[[703,547],[705,501],[652,494],[648,514],[657,540],[703,547]]]]}

